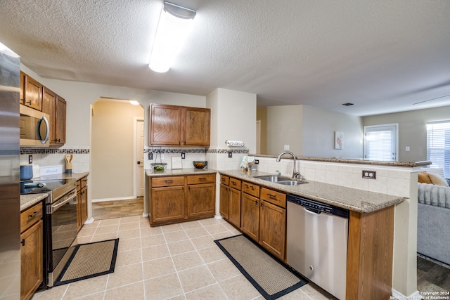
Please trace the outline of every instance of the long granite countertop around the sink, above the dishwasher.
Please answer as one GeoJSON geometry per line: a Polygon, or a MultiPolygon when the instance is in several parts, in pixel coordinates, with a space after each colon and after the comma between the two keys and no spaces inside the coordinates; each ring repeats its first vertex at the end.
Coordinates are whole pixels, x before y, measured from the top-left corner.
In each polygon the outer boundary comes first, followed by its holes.
{"type": "Polygon", "coordinates": [[[385,207],[399,204],[405,200],[404,197],[374,193],[356,188],[347,188],[340,185],[332,185],[317,181],[307,181],[301,185],[281,185],[263,181],[255,176],[274,175],[266,172],[243,172],[241,170],[219,171],[219,174],[239,178],[243,181],[264,185],[285,193],[307,197],[312,200],[342,207],[359,213],[369,213],[385,207]]]}

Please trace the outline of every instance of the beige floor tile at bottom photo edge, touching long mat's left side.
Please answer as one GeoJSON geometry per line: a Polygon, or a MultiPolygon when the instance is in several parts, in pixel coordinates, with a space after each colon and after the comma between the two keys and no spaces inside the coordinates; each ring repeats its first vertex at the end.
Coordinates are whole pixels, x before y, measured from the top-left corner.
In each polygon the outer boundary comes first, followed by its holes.
{"type": "Polygon", "coordinates": [[[243,275],[219,282],[229,299],[248,300],[259,296],[259,292],[243,275]]]}

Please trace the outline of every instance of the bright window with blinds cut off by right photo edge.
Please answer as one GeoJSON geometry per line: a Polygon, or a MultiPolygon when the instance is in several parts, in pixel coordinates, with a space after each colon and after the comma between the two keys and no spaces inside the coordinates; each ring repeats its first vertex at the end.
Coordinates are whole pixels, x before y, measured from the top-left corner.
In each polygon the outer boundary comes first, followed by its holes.
{"type": "Polygon", "coordinates": [[[427,159],[450,178],[450,121],[427,123],[427,159]]]}

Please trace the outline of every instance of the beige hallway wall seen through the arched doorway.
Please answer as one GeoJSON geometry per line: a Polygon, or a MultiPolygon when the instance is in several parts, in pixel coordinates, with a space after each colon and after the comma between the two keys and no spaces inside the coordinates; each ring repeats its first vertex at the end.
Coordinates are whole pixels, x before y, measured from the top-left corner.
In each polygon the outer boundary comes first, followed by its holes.
{"type": "Polygon", "coordinates": [[[135,119],[143,121],[143,116],[143,107],[131,105],[129,100],[100,98],[92,105],[92,202],[136,197],[135,119]]]}

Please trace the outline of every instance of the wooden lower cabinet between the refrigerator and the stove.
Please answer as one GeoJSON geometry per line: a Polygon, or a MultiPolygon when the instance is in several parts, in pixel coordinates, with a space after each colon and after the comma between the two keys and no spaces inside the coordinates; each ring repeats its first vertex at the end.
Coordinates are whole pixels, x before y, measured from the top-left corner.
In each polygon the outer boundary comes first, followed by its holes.
{"type": "Polygon", "coordinates": [[[30,299],[44,279],[42,203],[20,214],[20,299],[30,299]]]}

